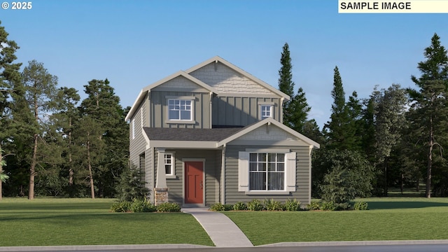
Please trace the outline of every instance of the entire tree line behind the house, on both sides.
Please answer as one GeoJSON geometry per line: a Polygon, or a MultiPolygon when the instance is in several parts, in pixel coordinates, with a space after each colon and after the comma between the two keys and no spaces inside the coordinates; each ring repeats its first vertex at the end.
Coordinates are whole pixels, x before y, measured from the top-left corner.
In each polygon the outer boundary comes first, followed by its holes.
{"type": "MultiPolygon", "coordinates": [[[[1,25],[1,23],[0,23],[1,25]]],[[[0,26],[0,200],[5,196],[120,197],[141,186],[129,165],[129,107],[109,80],[90,80],[81,100],[73,87],[32,60],[22,71],[19,46],[0,26]],[[121,183],[120,183],[121,181],[121,183]],[[125,182],[123,182],[125,181],[125,182]],[[127,182],[126,182],[127,181],[127,182]]],[[[448,56],[434,34],[411,76],[417,89],[391,84],[348,99],[337,66],[331,116],[323,129],[302,87],[295,90],[288,43],[281,52],[283,123],[321,144],[312,160],[312,196],[344,203],[414,188],[448,195],[448,56]]]]}

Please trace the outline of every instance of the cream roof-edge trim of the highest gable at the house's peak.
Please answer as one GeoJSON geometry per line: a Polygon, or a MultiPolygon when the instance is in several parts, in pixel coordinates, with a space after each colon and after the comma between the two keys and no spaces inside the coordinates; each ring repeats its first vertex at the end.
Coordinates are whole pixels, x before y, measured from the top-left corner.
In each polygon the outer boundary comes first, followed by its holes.
{"type": "Polygon", "coordinates": [[[228,62],[227,60],[225,60],[219,56],[215,56],[210,59],[207,59],[206,61],[204,61],[200,64],[197,64],[196,66],[193,66],[190,69],[187,69],[186,73],[190,74],[193,71],[196,71],[197,69],[200,69],[200,68],[207,66],[208,64],[214,63],[214,62],[215,63],[221,62],[221,64],[228,66],[233,71],[240,73],[242,76],[245,76],[246,78],[253,80],[255,83],[258,83],[262,87],[265,87],[267,90],[273,92],[274,94],[279,95],[279,97],[283,97],[284,99],[287,99],[287,100],[290,99],[288,94],[285,94],[285,93],[281,92],[280,90],[277,90],[276,88],[272,87],[272,85],[265,83],[264,81],[260,80],[259,78],[256,78],[255,76],[251,75],[251,73],[248,73],[248,72],[244,71],[243,69],[240,69],[238,66],[235,66],[234,64],[228,62]]]}

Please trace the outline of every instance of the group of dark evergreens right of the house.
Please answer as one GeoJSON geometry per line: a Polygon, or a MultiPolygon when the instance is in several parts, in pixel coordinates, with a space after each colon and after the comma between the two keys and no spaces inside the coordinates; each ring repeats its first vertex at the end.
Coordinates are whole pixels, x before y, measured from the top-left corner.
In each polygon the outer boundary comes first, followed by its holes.
{"type": "Polygon", "coordinates": [[[283,123],[321,144],[312,157],[312,195],[344,204],[354,197],[387,196],[412,188],[424,196],[448,196],[448,53],[434,34],[410,76],[416,88],[374,87],[369,97],[353,90],[346,99],[334,69],[330,120],[319,129],[308,119],[302,88],[294,94],[288,43],[283,46],[279,90],[290,95],[283,123]]]}

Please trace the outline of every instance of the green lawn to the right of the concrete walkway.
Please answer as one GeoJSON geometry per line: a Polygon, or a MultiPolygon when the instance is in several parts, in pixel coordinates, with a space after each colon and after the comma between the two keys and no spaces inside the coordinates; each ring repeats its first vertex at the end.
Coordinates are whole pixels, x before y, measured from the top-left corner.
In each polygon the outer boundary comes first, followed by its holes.
{"type": "Polygon", "coordinates": [[[368,211],[225,212],[254,245],[448,239],[447,198],[372,198],[368,211]]]}

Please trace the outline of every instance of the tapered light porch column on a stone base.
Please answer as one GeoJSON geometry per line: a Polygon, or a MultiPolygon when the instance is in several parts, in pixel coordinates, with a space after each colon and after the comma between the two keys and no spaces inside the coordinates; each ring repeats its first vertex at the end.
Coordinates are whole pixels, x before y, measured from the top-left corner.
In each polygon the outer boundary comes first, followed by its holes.
{"type": "Polygon", "coordinates": [[[167,178],[165,176],[165,148],[158,148],[157,177],[154,188],[154,204],[168,202],[167,178]]]}

